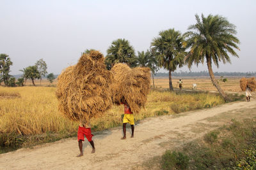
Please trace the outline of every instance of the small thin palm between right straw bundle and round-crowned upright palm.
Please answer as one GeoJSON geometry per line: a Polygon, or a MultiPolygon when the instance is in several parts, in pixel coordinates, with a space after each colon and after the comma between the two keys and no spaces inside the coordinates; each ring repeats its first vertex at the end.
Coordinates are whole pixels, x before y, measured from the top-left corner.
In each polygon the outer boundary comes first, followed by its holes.
{"type": "Polygon", "coordinates": [[[155,88],[154,74],[156,73],[158,66],[154,50],[150,49],[147,52],[138,52],[138,65],[142,67],[149,67],[152,73],[153,88],[155,88]]]}

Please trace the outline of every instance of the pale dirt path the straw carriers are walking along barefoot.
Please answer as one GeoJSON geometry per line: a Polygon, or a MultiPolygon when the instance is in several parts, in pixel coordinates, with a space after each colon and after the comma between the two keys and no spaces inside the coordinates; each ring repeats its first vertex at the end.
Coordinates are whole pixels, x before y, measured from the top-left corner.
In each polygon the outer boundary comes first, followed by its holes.
{"type": "MultiPolygon", "coordinates": [[[[223,104],[177,116],[147,118],[135,126],[135,138],[120,140],[121,127],[93,137],[96,153],[84,142],[84,156],[76,138],[20,149],[0,155],[0,169],[130,169],[166,149],[174,148],[228,124],[232,118],[256,116],[256,100],[223,104]]],[[[127,129],[127,136],[131,129],[127,129]]]]}

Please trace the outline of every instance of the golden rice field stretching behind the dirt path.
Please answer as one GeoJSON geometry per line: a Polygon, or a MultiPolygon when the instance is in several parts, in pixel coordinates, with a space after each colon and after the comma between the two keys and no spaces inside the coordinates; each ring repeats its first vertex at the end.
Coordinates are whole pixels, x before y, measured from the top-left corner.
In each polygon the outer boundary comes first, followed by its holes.
{"type": "MultiPolygon", "coordinates": [[[[155,81],[156,89],[150,90],[145,109],[134,115],[136,121],[225,103],[218,94],[179,90],[169,92],[163,90],[168,87],[168,79],[155,81]]],[[[206,78],[182,81],[184,89],[191,89],[191,83],[197,83],[199,90],[214,90],[211,80],[206,78]]],[[[28,81],[26,85],[29,83],[28,81]]],[[[67,120],[58,112],[56,87],[47,87],[49,82],[46,80],[42,81],[42,86],[39,86],[40,81],[36,81],[36,85],[38,86],[0,87],[0,146],[29,146],[52,141],[52,138],[76,136],[78,124],[67,120]]],[[[56,81],[53,85],[56,85],[56,81]]],[[[228,91],[241,91],[239,79],[236,78],[228,79],[226,83],[221,82],[221,87],[228,91]]],[[[121,125],[123,113],[124,106],[113,106],[103,117],[92,120],[92,130],[101,131],[121,125]]]]}

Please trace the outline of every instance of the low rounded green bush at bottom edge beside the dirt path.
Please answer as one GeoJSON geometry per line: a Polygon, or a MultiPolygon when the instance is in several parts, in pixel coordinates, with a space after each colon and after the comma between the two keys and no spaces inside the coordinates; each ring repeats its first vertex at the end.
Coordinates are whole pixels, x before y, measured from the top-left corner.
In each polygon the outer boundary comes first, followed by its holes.
{"type": "Polygon", "coordinates": [[[170,150],[166,150],[161,160],[163,169],[186,169],[188,168],[188,163],[187,155],[181,152],[171,152],[170,150]]]}

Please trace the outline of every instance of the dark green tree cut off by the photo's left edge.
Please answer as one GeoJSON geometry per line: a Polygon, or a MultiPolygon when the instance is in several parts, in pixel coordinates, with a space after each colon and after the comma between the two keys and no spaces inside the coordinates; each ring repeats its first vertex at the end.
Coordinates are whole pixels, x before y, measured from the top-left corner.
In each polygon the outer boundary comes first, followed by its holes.
{"type": "Polygon", "coordinates": [[[10,66],[12,66],[12,61],[9,55],[5,53],[0,54],[0,83],[4,81],[4,85],[8,86],[9,79],[12,77],[10,73],[10,66]]]}

